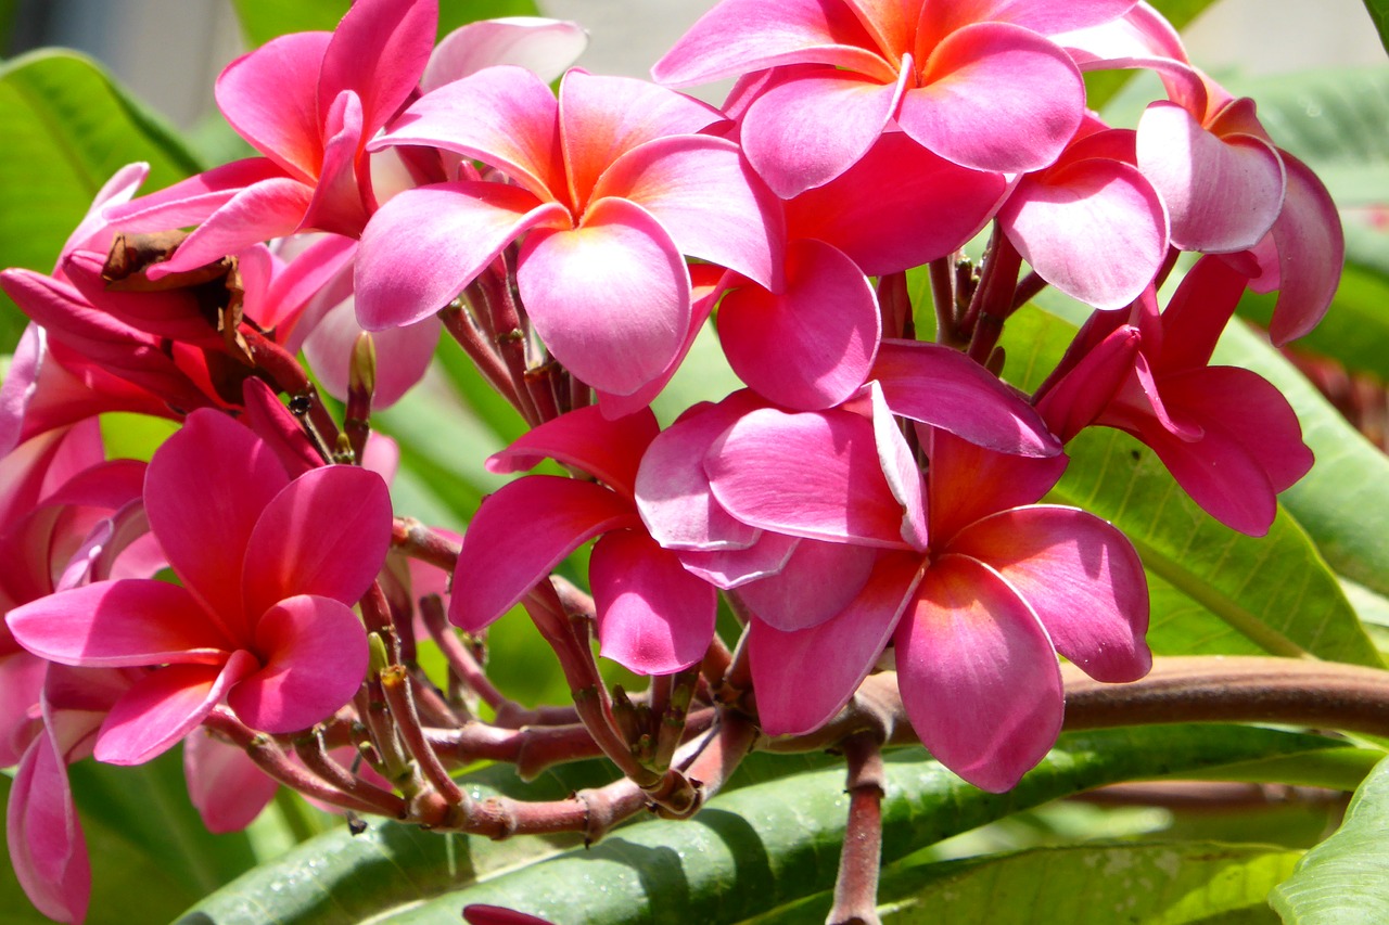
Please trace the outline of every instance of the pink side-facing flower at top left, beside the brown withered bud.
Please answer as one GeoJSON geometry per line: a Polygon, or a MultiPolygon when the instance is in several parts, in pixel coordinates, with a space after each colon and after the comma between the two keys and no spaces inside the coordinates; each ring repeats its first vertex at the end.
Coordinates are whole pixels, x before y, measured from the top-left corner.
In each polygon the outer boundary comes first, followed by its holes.
{"type": "Polygon", "coordinates": [[[438,0],[361,0],[335,32],[283,35],[226,65],[218,108],[264,157],[108,212],[128,231],[199,225],[151,278],[299,231],[360,235],[376,207],[365,144],[417,90],[438,17],[438,0]]]}

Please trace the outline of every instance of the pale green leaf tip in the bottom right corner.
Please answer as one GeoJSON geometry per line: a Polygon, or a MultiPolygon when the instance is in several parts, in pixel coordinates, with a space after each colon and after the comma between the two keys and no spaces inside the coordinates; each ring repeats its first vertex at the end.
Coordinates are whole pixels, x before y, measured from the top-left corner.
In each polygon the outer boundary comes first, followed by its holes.
{"type": "Polygon", "coordinates": [[[1270,897],[1289,925],[1371,925],[1389,910],[1389,758],[1365,778],[1329,839],[1270,897]]]}

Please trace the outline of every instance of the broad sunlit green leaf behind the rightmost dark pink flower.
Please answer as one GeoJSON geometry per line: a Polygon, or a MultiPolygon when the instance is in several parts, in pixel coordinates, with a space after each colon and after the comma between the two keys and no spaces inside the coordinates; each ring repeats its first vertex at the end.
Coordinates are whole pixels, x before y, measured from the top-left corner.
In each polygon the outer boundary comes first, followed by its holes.
{"type": "MultiPolygon", "coordinates": [[[[1035,388],[1074,332],[1067,321],[1040,310],[1015,315],[1004,339],[1008,379],[1035,388]]],[[[1229,339],[1236,342],[1231,349],[1239,354],[1235,358],[1257,358],[1257,342],[1245,343],[1251,335],[1242,326],[1232,326],[1229,339]]],[[[1272,353],[1267,346],[1264,351],[1272,353]]],[[[1276,354],[1272,358],[1278,360],[1276,354]]],[[[1308,403],[1303,411],[1304,421],[1318,426],[1345,426],[1324,401],[1308,403]]],[[[1145,567],[1161,579],[1154,588],[1167,597],[1157,597],[1158,604],[1167,601],[1175,611],[1186,611],[1188,621],[1193,618],[1190,603],[1199,604],[1274,654],[1381,664],[1335,575],[1290,517],[1281,512],[1264,538],[1236,533],[1186,497],[1150,450],[1117,431],[1086,431],[1067,450],[1071,465],[1053,499],[1092,511],[1124,531],[1145,567]],[[1185,597],[1171,597],[1172,589],[1185,597]]],[[[1339,503],[1331,486],[1324,494],[1317,504],[1339,503]]],[[[1192,632],[1208,638],[1214,625],[1200,622],[1206,629],[1192,632]]],[[[1170,644],[1181,649],[1179,640],[1170,644]]],[[[1232,651],[1243,649],[1238,644],[1232,651]]]]}

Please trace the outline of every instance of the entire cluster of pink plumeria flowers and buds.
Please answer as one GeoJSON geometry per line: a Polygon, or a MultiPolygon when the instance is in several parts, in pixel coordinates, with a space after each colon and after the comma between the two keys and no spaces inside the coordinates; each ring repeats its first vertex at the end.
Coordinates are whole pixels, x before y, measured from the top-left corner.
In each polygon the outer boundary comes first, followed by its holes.
{"type": "MultiPolygon", "coordinates": [[[[1286,400],[1210,357],[1246,289],[1279,292],[1275,342],[1315,325],[1336,212],[1146,3],[724,0],[657,83],[564,72],[583,44],[565,22],[435,47],[435,6],[358,0],[333,33],[233,61],[217,101],[258,156],[147,196],[129,167],[51,274],[0,274],[33,321],[0,392],[0,744],[19,764],[11,857],[46,914],[83,914],[64,768],[86,754],[143,762],[203,725],[322,747],[357,721],[379,790],[326,753],[278,779],[307,765],[374,811],[424,778],[461,800],[419,754],[403,785],[394,758],[424,739],[365,707],[418,725],[390,700],[399,650],[457,647],[415,629],[424,582],[388,557],[410,531],[365,465],[372,404],[421,378],[442,329],[531,425],[489,469],[568,472],[482,503],[454,626],[524,604],[579,690],[597,675],[550,575],[597,539],[604,657],[703,668],[708,700],[768,736],[814,732],[895,668],[922,743],[990,790],[1056,742],[1057,654],[1106,682],[1150,665],[1132,544],[1046,503],[1065,444],[1125,431],[1250,535],[1311,465],[1286,400]],[[1136,67],[1167,99],[1106,125],[1082,72],[1136,67]],[[728,76],[722,107],[671,89],[728,76]],[[1183,251],[1199,260],[1161,304],[1183,251]],[[997,344],[1047,285],[1093,314],[1024,394],[997,344]],[[649,406],[715,315],[746,388],[663,428],[649,406]],[[346,400],[340,422],[311,381],[346,400]],[[179,429],[147,465],[108,461],[110,411],[179,429]]],[[[633,765],[614,717],[581,704],[656,792],[669,753],[633,765]]],[[[210,818],[258,808],[199,792],[210,818]]]]}

